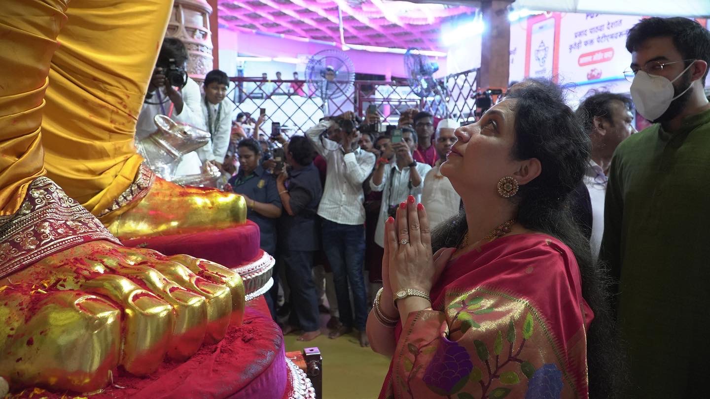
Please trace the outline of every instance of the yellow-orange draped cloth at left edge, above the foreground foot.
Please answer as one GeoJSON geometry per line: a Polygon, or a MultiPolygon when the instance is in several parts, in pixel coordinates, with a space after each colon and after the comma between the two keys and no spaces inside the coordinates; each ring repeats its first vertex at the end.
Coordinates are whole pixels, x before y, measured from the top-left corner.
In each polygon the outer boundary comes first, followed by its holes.
{"type": "MultiPolygon", "coordinates": [[[[4,2],[0,19],[0,217],[17,212],[43,175],[40,138],[49,59],[65,16],[63,1],[4,2]]],[[[1,222],[1,219],[0,219],[1,222]]]]}

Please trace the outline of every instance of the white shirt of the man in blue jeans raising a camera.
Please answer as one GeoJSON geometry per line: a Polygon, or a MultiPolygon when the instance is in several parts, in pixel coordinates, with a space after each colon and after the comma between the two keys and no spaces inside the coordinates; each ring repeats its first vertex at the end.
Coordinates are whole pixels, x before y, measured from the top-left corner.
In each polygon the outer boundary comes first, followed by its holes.
{"type": "Polygon", "coordinates": [[[365,195],[362,183],[372,172],[375,155],[359,148],[343,154],[339,143],[321,136],[331,123],[322,121],[306,132],[306,137],[310,138],[328,166],[318,215],[338,224],[364,224],[365,195]]]}

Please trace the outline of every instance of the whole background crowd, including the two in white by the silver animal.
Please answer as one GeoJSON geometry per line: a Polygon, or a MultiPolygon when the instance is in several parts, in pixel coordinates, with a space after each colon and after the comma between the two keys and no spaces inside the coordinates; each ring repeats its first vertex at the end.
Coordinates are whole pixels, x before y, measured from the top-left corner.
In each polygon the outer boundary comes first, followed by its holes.
{"type": "Polygon", "coordinates": [[[356,329],[367,346],[366,318],[382,284],[385,219],[408,195],[420,200],[425,191],[437,221],[459,212],[460,198],[448,180],[430,173],[446,159],[459,125],[444,119],[435,131],[432,114],[409,109],[393,136],[380,131],[376,111],[365,121],[346,112],[324,118],[305,136],[267,136],[261,129],[266,114],[254,120],[226,98],[224,72],[209,72],[200,93],[180,70],[186,60],[182,42],[165,38],[136,141],[155,131],[158,114],[209,132],[205,146],[182,157],[176,175],[214,165],[227,177],[223,190],[244,197],[261,248],[277,259],[275,284],[266,295],[273,317],[285,332],[301,330],[300,339],[310,340],[320,334],[319,312],[329,312],[330,337],[356,329]],[[181,84],[171,81],[176,65],[181,84]]]}

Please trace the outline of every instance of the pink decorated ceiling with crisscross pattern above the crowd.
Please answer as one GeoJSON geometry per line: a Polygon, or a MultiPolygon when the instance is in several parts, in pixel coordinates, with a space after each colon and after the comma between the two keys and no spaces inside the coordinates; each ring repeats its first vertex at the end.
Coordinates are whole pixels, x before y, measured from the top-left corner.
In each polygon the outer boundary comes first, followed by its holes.
{"type": "Polygon", "coordinates": [[[232,31],[422,50],[442,50],[442,23],[476,11],[386,0],[218,0],[218,4],[220,27],[232,31]]]}

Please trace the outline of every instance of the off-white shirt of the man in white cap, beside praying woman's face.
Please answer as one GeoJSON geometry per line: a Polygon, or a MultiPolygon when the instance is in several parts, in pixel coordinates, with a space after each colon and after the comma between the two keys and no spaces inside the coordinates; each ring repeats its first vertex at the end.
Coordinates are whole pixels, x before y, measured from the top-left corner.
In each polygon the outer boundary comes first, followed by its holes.
{"type": "Polygon", "coordinates": [[[454,190],[449,177],[439,173],[439,165],[427,173],[424,181],[422,205],[427,209],[429,225],[434,229],[450,217],[459,214],[461,196],[454,190]]]}

